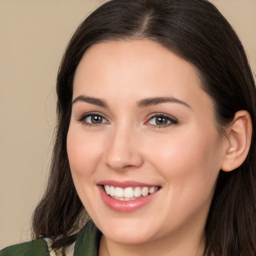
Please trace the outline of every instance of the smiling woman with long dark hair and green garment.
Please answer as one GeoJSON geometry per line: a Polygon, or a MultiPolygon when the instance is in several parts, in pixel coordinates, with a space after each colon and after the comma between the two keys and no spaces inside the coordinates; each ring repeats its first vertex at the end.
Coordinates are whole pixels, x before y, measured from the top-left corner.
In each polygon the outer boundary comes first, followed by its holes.
{"type": "Polygon", "coordinates": [[[211,3],[106,2],[71,38],[57,96],[36,239],[0,255],[256,254],[255,84],[211,3]]]}

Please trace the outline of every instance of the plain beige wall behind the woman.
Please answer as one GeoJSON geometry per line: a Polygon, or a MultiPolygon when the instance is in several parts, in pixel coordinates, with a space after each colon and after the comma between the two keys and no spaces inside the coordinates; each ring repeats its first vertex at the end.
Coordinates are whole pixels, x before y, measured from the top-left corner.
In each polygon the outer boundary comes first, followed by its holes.
{"type": "MultiPolygon", "coordinates": [[[[103,0],[0,0],[0,247],[30,239],[51,155],[55,78],[83,17],[103,0]]],[[[256,71],[256,0],[212,0],[256,71]]]]}

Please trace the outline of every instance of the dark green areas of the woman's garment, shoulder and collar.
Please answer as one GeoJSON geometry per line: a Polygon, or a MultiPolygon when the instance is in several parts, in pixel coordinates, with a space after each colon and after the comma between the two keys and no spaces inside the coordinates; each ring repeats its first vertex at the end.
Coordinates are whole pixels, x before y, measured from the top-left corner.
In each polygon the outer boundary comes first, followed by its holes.
{"type": "MultiPolygon", "coordinates": [[[[97,256],[101,232],[90,220],[78,233],[74,243],[73,256],[97,256]]],[[[8,246],[0,251],[0,256],[50,256],[47,243],[36,239],[8,246]]]]}

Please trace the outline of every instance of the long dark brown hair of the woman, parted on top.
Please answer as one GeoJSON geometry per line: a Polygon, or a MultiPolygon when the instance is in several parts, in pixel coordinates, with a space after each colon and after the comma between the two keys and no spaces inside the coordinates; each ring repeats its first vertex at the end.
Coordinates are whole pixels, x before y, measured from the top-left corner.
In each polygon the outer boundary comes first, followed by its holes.
{"type": "Polygon", "coordinates": [[[236,111],[250,113],[253,133],[247,158],[236,170],[219,173],[205,225],[205,255],[255,255],[255,84],[240,40],[206,0],[110,0],[77,28],[58,71],[55,144],[47,189],[33,214],[34,237],[51,238],[53,248],[65,247],[88,218],[66,152],[73,77],[90,45],[133,38],[156,41],[197,68],[202,88],[214,102],[220,133],[236,111]]]}

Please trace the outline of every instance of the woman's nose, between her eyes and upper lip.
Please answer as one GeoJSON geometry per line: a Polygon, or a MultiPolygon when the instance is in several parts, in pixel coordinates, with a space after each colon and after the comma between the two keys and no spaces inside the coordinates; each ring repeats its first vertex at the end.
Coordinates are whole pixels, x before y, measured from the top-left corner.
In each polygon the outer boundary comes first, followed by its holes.
{"type": "Polygon", "coordinates": [[[131,128],[116,128],[108,138],[105,151],[105,164],[113,170],[123,171],[142,165],[143,157],[139,150],[138,134],[131,128]]]}

